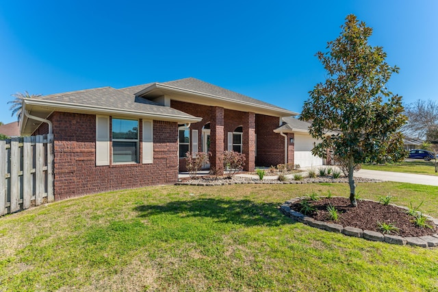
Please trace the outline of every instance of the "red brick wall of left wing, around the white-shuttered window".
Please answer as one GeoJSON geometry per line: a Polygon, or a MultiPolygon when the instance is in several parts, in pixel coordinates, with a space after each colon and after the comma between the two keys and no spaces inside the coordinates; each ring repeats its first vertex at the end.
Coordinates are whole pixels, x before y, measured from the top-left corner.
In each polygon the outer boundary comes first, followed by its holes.
{"type": "MultiPolygon", "coordinates": [[[[153,122],[153,164],[96,167],[96,116],[54,112],[49,119],[54,134],[55,199],[178,179],[177,123],[153,122]]],[[[141,120],[139,125],[141,131],[141,120]]],[[[140,132],[140,142],[141,137],[140,132]]],[[[141,153],[140,143],[140,162],[141,153]]]]}

